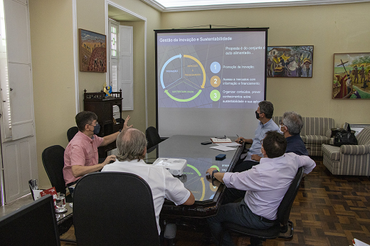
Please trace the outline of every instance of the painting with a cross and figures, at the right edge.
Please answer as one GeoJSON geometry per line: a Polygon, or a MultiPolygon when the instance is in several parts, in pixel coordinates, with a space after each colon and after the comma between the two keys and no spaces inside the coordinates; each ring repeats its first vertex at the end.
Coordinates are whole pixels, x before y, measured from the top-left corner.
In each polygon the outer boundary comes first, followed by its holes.
{"type": "Polygon", "coordinates": [[[334,54],[334,99],[370,99],[370,53],[334,54]]]}

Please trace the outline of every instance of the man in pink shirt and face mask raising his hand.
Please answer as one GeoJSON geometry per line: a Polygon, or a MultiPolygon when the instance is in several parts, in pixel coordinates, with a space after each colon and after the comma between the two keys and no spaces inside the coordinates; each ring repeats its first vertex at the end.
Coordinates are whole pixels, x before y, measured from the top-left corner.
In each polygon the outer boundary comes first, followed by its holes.
{"type": "MultiPolygon", "coordinates": [[[[97,115],[90,111],[79,112],[76,117],[78,133],[70,140],[64,151],[63,176],[67,186],[71,186],[85,174],[100,171],[110,161],[115,161],[115,155],[107,156],[105,161],[98,163],[97,147],[105,146],[116,141],[118,134],[110,134],[105,137],[97,137],[100,131],[100,124],[97,122],[97,115]]],[[[123,129],[128,129],[127,116],[123,129]]]]}

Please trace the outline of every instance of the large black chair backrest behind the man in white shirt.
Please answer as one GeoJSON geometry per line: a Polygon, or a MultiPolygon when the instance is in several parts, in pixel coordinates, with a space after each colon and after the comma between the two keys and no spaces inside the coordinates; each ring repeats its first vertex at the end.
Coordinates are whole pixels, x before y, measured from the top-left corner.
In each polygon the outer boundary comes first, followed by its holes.
{"type": "Polygon", "coordinates": [[[152,191],[132,173],[90,173],[73,193],[78,245],[159,245],[152,191]]]}

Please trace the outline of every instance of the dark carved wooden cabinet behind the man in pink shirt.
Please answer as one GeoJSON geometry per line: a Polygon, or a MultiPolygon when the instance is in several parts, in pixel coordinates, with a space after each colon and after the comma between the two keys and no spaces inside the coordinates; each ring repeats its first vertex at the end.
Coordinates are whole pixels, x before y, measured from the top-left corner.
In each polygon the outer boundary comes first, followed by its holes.
{"type": "MultiPolygon", "coordinates": [[[[97,122],[100,124],[100,132],[97,136],[105,137],[123,128],[123,122],[115,123],[113,120],[113,106],[119,107],[120,118],[122,118],[122,90],[120,92],[111,92],[110,97],[105,97],[104,92],[86,92],[86,90],[84,92],[83,109],[94,112],[97,115],[97,122]]],[[[97,148],[99,157],[106,157],[107,151],[115,148],[115,141],[107,146],[97,148]]]]}

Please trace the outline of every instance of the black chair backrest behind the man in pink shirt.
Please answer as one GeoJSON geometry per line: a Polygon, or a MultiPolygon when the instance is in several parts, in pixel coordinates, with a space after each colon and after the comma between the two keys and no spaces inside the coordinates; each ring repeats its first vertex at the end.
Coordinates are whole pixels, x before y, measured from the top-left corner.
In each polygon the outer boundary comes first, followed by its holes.
{"type": "Polygon", "coordinates": [[[65,181],[63,177],[64,148],[60,145],[53,145],[43,150],[43,167],[48,174],[51,186],[56,192],[65,194],[65,181]]]}

